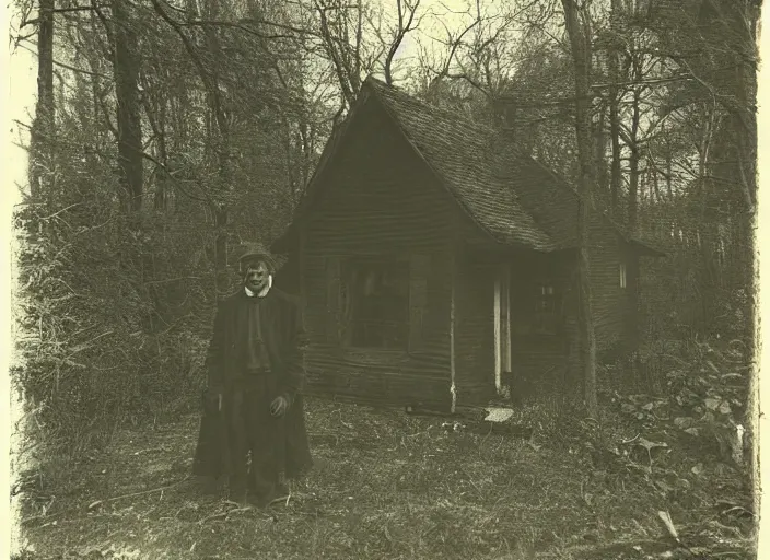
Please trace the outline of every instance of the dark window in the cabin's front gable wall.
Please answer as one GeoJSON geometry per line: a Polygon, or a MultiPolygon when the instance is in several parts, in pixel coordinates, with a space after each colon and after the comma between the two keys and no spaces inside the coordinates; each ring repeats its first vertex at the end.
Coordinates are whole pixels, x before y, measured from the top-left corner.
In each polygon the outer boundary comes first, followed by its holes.
{"type": "Polygon", "coordinates": [[[343,264],[343,342],[406,350],[409,345],[409,261],[355,258],[343,264]]]}

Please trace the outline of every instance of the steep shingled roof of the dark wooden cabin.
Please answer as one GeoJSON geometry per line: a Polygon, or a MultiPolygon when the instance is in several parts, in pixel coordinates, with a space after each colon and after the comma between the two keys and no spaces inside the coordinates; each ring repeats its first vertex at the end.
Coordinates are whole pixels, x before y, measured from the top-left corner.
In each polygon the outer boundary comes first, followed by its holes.
{"type": "MultiPolygon", "coordinates": [[[[364,81],[362,93],[359,103],[374,100],[382,105],[439,182],[492,241],[541,252],[576,246],[576,192],[523,153],[510,132],[459,118],[372,77],[364,81]]],[[[343,135],[345,127],[327,144],[308,197],[316,195],[317,179],[343,135]]],[[[303,211],[300,208],[298,217],[303,211]]],[[[284,246],[292,230],[273,244],[276,250],[284,246]]]]}

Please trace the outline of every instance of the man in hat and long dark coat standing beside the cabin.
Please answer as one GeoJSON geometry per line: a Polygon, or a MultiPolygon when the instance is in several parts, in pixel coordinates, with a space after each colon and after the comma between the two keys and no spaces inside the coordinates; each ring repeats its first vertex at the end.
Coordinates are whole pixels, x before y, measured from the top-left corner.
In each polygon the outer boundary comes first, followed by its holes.
{"type": "Polygon", "coordinates": [[[285,480],[312,465],[302,401],[303,328],[295,302],[272,288],[276,267],[267,250],[250,245],[238,270],[243,284],[219,304],[214,318],[194,474],[224,475],[232,501],[262,506],[285,499],[285,480]]]}

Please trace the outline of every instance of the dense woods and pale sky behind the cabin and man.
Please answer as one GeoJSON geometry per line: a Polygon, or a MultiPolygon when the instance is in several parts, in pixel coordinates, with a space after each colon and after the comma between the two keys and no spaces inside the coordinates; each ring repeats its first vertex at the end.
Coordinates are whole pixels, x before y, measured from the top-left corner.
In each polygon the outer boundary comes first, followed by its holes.
{"type": "MultiPolygon", "coordinates": [[[[39,60],[14,215],[13,378],[28,417],[47,441],[81,448],[195,407],[238,243],[285,228],[375,73],[513,128],[532,155],[587,185],[597,209],[667,253],[628,271],[641,343],[631,368],[599,357],[600,395],[667,395],[699,419],[745,422],[759,9],[18,0],[15,47],[39,60]]],[[[637,415],[643,402],[625,405],[637,415]]]]}

